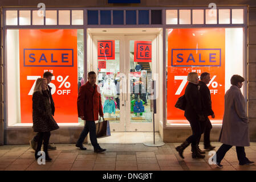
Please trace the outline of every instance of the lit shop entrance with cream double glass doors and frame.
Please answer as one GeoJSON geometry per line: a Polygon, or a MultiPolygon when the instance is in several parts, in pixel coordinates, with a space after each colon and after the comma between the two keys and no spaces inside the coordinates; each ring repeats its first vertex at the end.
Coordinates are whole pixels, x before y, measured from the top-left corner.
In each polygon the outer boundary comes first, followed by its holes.
{"type": "Polygon", "coordinates": [[[152,131],[151,80],[158,80],[157,35],[143,35],[137,28],[95,31],[88,31],[92,44],[88,45],[87,70],[97,73],[104,118],[110,121],[111,131],[152,131]]]}

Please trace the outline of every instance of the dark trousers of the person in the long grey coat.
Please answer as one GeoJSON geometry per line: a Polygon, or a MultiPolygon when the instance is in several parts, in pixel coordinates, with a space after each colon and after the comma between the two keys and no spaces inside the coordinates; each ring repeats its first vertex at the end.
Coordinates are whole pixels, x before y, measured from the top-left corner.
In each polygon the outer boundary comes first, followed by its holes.
{"type": "MultiPolygon", "coordinates": [[[[231,147],[232,146],[228,144],[222,144],[222,146],[216,152],[217,163],[221,163],[221,160],[224,158],[226,152],[229,151],[231,147]]],[[[245,147],[236,146],[235,149],[237,150],[237,159],[239,160],[239,164],[246,164],[248,162],[248,159],[246,158],[245,147]]]]}

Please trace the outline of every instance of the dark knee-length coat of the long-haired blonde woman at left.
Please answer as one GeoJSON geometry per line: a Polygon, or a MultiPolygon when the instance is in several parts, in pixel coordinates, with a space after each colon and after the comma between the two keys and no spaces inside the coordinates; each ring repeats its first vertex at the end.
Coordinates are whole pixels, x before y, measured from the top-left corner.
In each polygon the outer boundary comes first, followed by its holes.
{"type": "Polygon", "coordinates": [[[52,117],[50,96],[47,91],[41,94],[39,91],[34,92],[32,96],[33,109],[33,129],[35,132],[48,132],[59,129],[58,124],[52,117]]]}

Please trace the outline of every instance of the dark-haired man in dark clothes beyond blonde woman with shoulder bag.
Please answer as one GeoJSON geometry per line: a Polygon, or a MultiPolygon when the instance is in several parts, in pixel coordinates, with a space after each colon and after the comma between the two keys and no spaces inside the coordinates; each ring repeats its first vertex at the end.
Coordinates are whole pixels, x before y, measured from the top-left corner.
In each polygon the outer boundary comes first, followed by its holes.
{"type": "MultiPolygon", "coordinates": [[[[210,82],[210,73],[204,72],[200,76],[199,86],[202,100],[202,110],[205,115],[205,121],[201,122],[202,132],[204,132],[204,148],[205,150],[213,150],[215,147],[210,144],[210,130],[212,129],[212,124],[210,123],[209,115],[215,118],[214,112],[212,110],[212,100],[210,96],[210,90],[206,84],[210,82]]],[[[198,143],[200,140],[198,141],[198,143]]]]}

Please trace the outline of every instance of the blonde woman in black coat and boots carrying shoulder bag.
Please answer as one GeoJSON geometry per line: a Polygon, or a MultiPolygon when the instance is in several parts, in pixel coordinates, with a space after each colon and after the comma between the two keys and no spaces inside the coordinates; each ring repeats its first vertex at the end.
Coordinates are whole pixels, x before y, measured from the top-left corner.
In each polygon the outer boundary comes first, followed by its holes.
{"type": "Polygon", "coordinates": [[[189,73],[187,80],[189,83],[185,89],[186,107],[184,115],[190,123],[193,134],[180,146],[176,147],[176,150],[180,154],[181,158],[184,159],[183,151],[191,143],[192,158],[205,158],[205,155],[200,154],[197,146],[197,141],[201,137],[200,121],[205,121],[204,114],[202,113],[201,96],[198,89],[199,78],[197,73],[189,73]]]}

